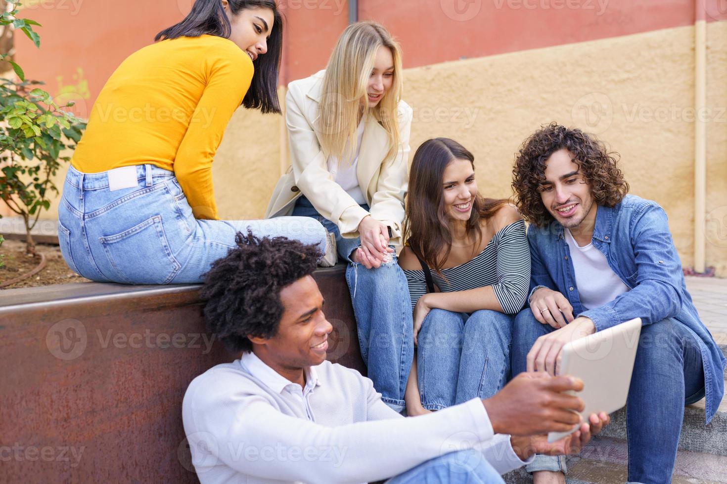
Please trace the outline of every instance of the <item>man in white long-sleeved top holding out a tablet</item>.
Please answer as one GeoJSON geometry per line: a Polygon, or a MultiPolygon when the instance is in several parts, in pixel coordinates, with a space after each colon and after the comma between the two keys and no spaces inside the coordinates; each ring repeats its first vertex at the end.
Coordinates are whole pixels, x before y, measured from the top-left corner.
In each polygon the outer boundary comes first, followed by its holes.
{"type": "Polygon", "coordinates": [[[238,234],[204,276],[208,328],[240,359],[190,383],[182,419],[201,483],[502,483],[536,452],[577,452],[582,382],[522,374],[485,401],[403,418],[371,380],[326,361],[332,325],[312,274],[316,246],[238,234]],[[512,436],[505,435],[510,432],[512,436]],[[531,436],[534,435],[534,436],[531,436]]]}

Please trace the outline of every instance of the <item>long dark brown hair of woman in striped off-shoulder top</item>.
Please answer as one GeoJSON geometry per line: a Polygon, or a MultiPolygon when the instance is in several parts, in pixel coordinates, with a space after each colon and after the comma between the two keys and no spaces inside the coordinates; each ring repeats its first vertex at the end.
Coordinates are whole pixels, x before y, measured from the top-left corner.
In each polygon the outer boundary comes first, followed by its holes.
{"type": "MultiPolygon", "coordinates": [[[[405,239],[409,246],[441,275],[441,266],[449,257],[451,234],[444,210],[442,184],[444,170],[452,160],[469,160],[475,168],[475,157],[461,144],[449,138],[428,139],[414,153],[406,194],[405,239]]],[[[507,200],[475,197],[467,236],[482,237],[481,223],[507,204],[507,200]]]]}

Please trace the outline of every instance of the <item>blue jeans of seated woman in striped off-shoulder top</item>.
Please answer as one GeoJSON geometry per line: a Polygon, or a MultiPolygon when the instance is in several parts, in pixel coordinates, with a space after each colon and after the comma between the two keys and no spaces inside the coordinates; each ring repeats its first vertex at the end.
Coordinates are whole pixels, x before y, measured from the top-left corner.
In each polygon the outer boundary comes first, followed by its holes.
{"type": "Polygon", "coordinates": [[[482,309],[470,316],[432,309],[417,338],[422,406],[440,410],[489,398],[510,372],[513,316],[482,309]]]}

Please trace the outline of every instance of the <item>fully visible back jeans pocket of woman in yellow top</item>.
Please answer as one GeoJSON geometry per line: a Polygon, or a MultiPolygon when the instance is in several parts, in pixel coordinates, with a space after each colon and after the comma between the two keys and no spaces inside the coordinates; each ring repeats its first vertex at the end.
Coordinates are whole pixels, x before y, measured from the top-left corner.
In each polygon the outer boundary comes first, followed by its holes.
{"type": "Polygon", "coordinates": [[[127,284],[169,284],[181,268],[158,215],[119,234],[99,237],[99,242],[119,280],[127,284]]]}

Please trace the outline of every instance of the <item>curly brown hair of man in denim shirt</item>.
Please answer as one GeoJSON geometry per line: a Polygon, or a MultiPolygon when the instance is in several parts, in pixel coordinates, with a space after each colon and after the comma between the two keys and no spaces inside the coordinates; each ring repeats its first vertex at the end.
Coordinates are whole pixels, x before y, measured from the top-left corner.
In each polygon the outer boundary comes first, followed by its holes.
{"type": "Polygon", "coordinates": [[[629,191],[624,174],[616,167],[618,153],[608,151],[606,144],[579,129],[566,128],[558,123],[543,125],[523,141],[513,168],[515,205],[526,221],[537,226],[553,221],[538,188],[545,181],[545,162],[563,148],[568,149],[585,181],[590,184],[597,205],[613,207],[629,191]]]}

